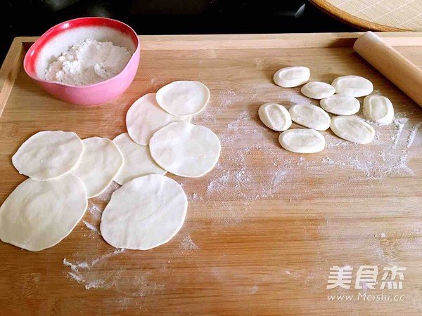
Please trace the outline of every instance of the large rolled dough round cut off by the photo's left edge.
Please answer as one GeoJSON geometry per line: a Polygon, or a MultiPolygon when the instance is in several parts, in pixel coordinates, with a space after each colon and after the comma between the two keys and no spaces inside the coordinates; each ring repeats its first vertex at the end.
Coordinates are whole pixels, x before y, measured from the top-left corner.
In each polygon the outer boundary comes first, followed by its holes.
{"type": "Polygon", "coordinates": [[[0,207],[0,239],[29,251],[49,248],[72,232],[87,205],[84,183],[71,173],[27,179],[0,207]]]}

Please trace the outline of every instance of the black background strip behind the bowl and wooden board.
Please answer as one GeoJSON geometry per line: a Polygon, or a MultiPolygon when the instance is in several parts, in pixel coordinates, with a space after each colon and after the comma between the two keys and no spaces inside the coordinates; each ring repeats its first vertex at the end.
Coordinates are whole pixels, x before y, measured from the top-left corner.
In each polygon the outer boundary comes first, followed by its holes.
{"type": "Polygon", "coordinates": [[[305,0],[1,0],[0,62],[14,37],[39,36],[84,16],[115,18],[137,34],[357,31],[305,0]]]}

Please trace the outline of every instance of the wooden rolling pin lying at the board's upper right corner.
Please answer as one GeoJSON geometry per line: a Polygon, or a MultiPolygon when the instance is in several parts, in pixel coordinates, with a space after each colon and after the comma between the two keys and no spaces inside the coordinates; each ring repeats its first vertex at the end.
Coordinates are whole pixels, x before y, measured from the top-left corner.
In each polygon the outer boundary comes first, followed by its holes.
{"type": "Polygon", "coordinates": [[[362,34],[354,51],[422,107],[422,70],[373,32],[362,34]]]}

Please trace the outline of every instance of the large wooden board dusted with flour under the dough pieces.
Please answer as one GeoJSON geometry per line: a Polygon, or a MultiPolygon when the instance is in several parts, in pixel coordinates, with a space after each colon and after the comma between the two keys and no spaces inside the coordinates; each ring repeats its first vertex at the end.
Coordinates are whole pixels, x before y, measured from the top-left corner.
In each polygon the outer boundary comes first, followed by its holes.
{"type": "MultiPolygon", "coordinates": [[[[193,122],[217,133],[222,156],[203,178],[170,175],[188,195],[188,215],[158,248],[113,249],[98,234],[117,185],[90,199],[81,223],[51,249],[31,253],[0,242],[1,315],[420,315],[422,110],[353,52],[358,36],[143,36],[133,84],[101,107],[69,105],[42,91],[21,67],[35,38],[15,39],[0,71],[0,203],[25,180],[11,157],[33,133],[113,139],[125,131],[134,100],[174,80],[210,88],[210,104],[193,122]],[[312,80],[368,78],[374,93],[392,100],[395,123],[374,125],[370,145],[326,131],[324,152],[283,150],[258,107],[317,104],[299,88],[273,84],[274,72],[288,65],[309,67],[312,80]],[[326,289],[330,268],[349,265],[351,288],[326,289]],[[354,289],[363,265],[378,269],[375,289],[354,289]],[[383,269],[393,266],[407,268],[403,289],[381,290],[383,269]],[[392,301],[357,299],[365,293],[392,301]]],[[[422,67],[422,33],[380,36],[422,67]]]]}

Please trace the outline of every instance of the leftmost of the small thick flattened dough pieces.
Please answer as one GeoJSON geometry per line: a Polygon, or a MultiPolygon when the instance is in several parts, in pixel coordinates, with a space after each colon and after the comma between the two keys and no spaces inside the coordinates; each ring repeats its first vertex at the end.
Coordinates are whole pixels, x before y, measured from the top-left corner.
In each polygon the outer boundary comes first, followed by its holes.
{"type": "Polygon", "coordinates": [[[265,103],[260,106],[258,115],[262,123],[274,131],[286,131],[292,125],[290,114],[283,105],[265,103]]]}

